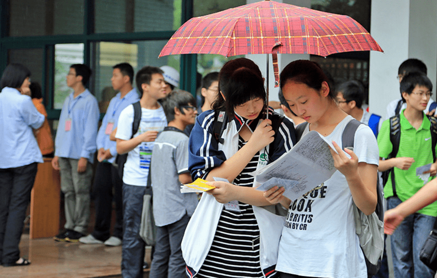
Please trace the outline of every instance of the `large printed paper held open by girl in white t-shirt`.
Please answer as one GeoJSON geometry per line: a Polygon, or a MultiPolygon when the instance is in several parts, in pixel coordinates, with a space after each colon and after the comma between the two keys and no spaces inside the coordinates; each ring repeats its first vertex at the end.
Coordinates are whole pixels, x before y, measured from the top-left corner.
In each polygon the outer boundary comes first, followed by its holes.
{"type": "Polygon", "coordinates": [[[301,197],[337,170],[329,146],[335,151],[318,132],[308,132],[288,153],[256,173],[255,181],[262,184],[257,190],[278,186],[285,188],[284,196],[290,200],[301,197]]]}

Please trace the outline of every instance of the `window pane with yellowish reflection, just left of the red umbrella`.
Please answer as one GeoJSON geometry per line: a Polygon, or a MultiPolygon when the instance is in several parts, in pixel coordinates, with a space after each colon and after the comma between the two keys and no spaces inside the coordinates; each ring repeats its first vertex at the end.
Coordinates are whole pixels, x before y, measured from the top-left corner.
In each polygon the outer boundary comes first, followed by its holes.
{"type": "MultiPolygon", "coordinates": [[[[106,112],[110,100],[117,93],[111,84],[113,66],[116,64],[124,62],[131,64],[135,74],[144,66],[169,65],[177,70],[180,69],[180,55],[169,55],[158,59],[159,52],[166,43],[167,40],[97,42],[94,44],[94,94],[99,102],[101,113],[106,112]]],[[[133,87],[136,88],[134,80],[133,87]]]]}

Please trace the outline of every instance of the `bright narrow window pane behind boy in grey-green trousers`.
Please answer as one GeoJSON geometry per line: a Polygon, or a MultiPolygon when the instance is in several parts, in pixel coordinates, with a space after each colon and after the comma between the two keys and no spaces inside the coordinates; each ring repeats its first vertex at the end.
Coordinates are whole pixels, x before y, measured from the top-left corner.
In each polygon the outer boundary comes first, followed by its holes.
{"type": "Polygon", "coordinates": [[[73,91],[66,83],[66,76],[73,64],[83,64],[83,43],[55,45],[55,109],[61,109],[65,98],[73,91]]]}

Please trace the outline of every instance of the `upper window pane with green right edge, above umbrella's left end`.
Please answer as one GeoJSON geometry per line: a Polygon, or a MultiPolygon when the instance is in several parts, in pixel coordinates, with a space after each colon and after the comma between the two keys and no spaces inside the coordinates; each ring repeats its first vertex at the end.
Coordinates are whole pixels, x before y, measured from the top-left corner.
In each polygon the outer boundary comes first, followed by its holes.
{"type": "Polygon", "coordinates": [[[181,25],[181,3],[182,0],[95,0],[95,33],[176,30],[181,25]]]}

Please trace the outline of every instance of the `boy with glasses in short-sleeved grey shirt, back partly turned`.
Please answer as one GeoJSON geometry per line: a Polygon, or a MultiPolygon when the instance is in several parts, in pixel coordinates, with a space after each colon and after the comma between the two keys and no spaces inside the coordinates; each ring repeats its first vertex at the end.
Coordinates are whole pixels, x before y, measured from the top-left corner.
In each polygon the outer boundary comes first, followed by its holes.
{"type": "Polygon", "coordinates": [[[186,91],[173,91],[163,102],[169,125],[156,138],[152,152],[153,218],[157,229],[150,278],[183,277],[185,273],[181,242],[196,209],[197,195],[181,193],[180,186],[191,182],[189,138],[183,130],[196,120],[193,104],[194,97],[186,91]]]}

